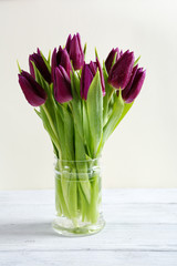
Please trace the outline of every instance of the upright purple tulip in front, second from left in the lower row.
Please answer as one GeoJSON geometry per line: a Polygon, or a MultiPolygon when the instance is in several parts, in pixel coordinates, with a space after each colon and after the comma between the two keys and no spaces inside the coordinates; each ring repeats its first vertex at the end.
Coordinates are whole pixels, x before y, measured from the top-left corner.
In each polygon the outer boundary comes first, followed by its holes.
{"type": "Polygon", "coordinates": [[[73,99],[71,93],[71,81],[62,65],[55,68],[53,91],[54,98],[59,103],[69,102],[73,99]]]}

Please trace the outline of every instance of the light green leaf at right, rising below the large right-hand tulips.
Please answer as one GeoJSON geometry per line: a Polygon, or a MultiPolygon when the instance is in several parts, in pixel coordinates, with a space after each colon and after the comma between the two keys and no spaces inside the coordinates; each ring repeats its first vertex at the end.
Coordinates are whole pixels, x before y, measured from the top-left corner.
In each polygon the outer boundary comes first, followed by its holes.
{"type": "Polygon", "coordinates": [[[115,96],[114,105],[113,105],[113,112],[106,123],[106,125],[103,129],[103,145],[108,139],[108,136],[113,133],[115,130],[115,126],[117,125],[119,117],[124,110],[124,101],[122,99],[121,90],[119,95],[115,96]]]}

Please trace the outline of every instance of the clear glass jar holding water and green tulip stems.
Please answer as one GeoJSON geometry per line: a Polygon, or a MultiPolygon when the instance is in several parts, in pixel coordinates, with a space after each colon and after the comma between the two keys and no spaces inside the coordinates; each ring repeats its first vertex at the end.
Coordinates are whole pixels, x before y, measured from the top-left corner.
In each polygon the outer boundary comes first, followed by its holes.
{"type": "Polygon", "coordinates": [[[55,160],[55,209],[53,229],[61,235],[91,235],[104,227],[100,158],[55,160]]]}

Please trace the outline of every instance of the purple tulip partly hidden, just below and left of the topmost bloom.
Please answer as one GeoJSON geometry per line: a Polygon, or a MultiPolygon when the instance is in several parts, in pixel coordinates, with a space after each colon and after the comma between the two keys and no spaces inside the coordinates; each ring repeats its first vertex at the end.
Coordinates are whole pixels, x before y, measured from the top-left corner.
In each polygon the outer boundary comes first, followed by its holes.
{"type": "Polygon", "coordinates": [[[72,71],[70,57],[66,49],[62,49],[61,47],[59,48],[58,52],[55,48],[52,54],[52,80],[54,80],[55,68],[59,65],[62,65],[65,69],[67,75],[70,76],[70,72],[72,71]]]}

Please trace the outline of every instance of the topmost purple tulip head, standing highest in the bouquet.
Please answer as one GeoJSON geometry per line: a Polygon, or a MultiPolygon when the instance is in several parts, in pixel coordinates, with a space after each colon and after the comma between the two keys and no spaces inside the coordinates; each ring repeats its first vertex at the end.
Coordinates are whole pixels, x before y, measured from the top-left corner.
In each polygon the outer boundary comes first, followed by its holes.
{"type": "Polygon", "coordinates": [[[80,70],[84,64],[84,52],[81,45],[81,37],[79,33],[71,34],[67,38],[65,49],[69,52],[70,59],[72,60],[74,70],[80,70]]]}

